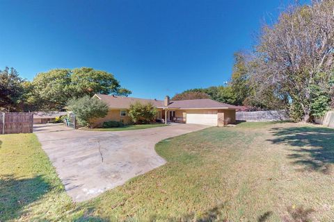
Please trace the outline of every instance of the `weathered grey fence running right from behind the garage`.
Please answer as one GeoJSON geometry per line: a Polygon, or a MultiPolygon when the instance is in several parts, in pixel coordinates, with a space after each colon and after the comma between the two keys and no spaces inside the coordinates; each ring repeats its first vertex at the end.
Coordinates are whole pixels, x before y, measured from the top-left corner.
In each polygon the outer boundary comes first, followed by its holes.
{"type": "Polygon", "coordinates": [[[255,112],[237,112],[237,121],[285,121],[289,120],[289,116],[285,110],[268,110],[255,112]]]}

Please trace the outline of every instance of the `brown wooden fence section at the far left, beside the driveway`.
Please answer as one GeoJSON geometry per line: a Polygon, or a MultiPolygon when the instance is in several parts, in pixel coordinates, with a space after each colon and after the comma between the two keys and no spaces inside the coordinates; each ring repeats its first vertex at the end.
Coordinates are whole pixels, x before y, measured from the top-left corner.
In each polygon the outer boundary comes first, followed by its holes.
{"type": "Polygon", "coordinates": [[[0,112],[0,134],[33,133],[33,114],[0,112]]]}

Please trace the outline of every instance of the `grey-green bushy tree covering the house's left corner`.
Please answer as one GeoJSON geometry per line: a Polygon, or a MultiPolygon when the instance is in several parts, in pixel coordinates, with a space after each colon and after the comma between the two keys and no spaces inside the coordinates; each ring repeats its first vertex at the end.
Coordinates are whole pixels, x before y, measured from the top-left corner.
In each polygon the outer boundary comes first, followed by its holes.
{"type": "Polygon", "coordinates": [[[100,99],[84,96],[79,99],[71,99],[67,103],[67,110],[74,112],[81,126],[90,127],[93,119],[105,117],[108,114],[108,105],[100,99]]]}

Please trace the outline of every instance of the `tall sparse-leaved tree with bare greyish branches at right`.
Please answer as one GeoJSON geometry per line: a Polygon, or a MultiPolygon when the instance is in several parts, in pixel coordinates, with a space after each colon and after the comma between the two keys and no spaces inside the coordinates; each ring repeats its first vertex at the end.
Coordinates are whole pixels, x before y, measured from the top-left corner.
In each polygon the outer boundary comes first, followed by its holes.
{"type": "MultiPolygon", "coordinates": [[[[329,94],[333,76],[334,1],[313,1],[312,6],[293,6],[281,13],[273,26],[263,26],[255,47],[251,80],[257,94],[273,96],[294,109],[303,121],[312,120],[315,85],[329,94]]],[[[326,104],[326,99],[321,101],[326,104]]]]}

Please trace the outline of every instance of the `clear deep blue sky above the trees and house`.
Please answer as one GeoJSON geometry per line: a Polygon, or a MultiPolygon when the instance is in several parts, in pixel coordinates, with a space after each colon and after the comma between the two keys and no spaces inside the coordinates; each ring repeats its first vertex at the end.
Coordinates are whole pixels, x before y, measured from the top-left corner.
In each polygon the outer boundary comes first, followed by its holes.
{"type": "Polygon", "coordinates": [[[32,80],[55,68],[114,74],[132,96],[222,85],[233,53],[289,0],[0,0],[0,69],[32,80]]]}

